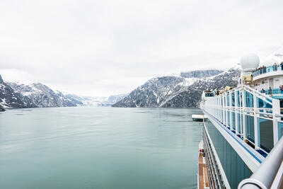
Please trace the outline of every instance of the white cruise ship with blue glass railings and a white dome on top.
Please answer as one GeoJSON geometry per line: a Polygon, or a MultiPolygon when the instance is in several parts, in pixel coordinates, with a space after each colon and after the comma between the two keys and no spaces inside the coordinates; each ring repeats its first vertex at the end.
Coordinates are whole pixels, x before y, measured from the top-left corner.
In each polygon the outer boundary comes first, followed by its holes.
{"type": "Polygon", "coordinates": [[[237,87],[202,93],[197,188],[283,188],[283,65],[240,64],[237,87]]]}

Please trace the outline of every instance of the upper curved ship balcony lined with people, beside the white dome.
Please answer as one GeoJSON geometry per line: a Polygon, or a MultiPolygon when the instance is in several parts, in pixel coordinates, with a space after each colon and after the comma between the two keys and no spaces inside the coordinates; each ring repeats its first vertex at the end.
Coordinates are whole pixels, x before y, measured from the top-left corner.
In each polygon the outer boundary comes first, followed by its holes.
{"type": "Polygon", "coordinates": [[[253,81],[270,76],[280,76],[280,75],[283,75],[283,66],[281,65],[263,67],[253,72],[253,81]]]}

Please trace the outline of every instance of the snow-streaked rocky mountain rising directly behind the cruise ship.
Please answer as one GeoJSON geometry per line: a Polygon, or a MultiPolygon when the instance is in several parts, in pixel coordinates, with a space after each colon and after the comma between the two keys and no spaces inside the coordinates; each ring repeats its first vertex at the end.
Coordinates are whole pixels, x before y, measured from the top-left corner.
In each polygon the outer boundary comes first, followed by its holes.
{"type": "Polygon", "coordinates": [[[183,72],[179,76],[161,76],[146,81],[114,107],[195,107],[202,91],[236,86],[241,70],[237,65],[227,71],[183,72]]]}

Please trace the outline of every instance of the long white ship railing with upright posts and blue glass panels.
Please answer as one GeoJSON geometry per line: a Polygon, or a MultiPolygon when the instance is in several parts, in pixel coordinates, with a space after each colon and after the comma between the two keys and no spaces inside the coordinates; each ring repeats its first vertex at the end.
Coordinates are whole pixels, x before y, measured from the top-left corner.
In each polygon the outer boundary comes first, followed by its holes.
{"type": "Polygon", "coordinates": [[[201,108],[222,122],[229,130],[248,140],[265,156],[283,134],[283,119],[279,100],[241,86],[206,98],[201,108]]]}

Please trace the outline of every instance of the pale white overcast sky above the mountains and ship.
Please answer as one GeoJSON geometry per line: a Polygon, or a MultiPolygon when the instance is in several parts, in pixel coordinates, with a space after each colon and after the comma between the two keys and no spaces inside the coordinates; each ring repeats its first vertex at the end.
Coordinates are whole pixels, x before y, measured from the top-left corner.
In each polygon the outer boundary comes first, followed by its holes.
{"type": "Polygon", "coordinates": [[[87,96],[283,53],[283,1],[0,1],[0,74],[87,96]]]}

